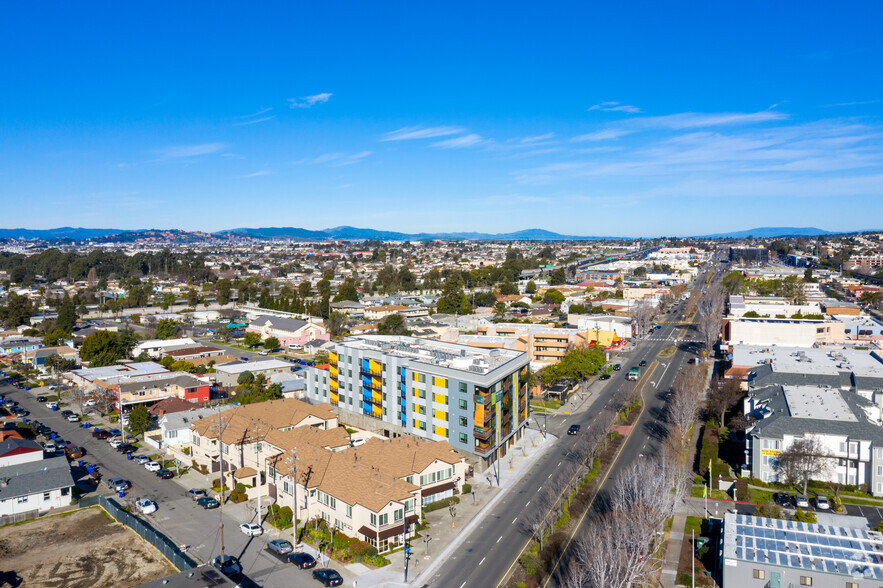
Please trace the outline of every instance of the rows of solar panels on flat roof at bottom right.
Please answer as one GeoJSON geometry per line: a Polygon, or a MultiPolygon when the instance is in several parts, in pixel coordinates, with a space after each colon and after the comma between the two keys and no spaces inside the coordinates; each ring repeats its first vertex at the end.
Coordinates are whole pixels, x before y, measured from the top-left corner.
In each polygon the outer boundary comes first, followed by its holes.
{"type": "Polygon", "coordinates": [[[728,513],[724,535],[724,557],[883,581],[874,531],[728,513]]]}

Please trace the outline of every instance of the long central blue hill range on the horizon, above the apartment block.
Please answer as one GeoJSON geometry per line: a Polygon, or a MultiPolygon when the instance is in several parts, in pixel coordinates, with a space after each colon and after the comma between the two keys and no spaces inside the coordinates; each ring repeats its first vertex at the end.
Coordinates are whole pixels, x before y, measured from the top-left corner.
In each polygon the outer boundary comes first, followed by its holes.
{"type": "Polygon", "coordinates": [[[352,240],[377,240],[377,241],[419,241],[422,239],[473,239],[482,241],[577,241],[617,239],[619,237],[589,237],[581,235],[562,235],[544,229],[526,229],[513,233],[400,233],[397,231],[378,231],[376,229],[361,229],[358,227],[333,227],[321,231],[311,231],[297,227],[263,227],[263,228],[239,228],[221,231],[221,233],[236,233],[250,235],[252,237],[291,239],[325,240],[325,239],[352,239],[352,240]]]}

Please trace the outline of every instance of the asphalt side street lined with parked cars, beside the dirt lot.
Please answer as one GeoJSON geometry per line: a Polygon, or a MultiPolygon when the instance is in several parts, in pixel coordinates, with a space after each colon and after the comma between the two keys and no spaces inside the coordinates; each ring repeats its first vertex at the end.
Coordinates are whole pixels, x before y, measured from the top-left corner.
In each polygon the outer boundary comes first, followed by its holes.
{"type": "MultiPolygon", "coordinates": [[[[129,480],[132,487],[122,499],[124,503],[134,505],[139,497],[156,501],[159,507],[157,512],[144,518],[177,545],[190,546],[188,555],[195,560],[208,562],[220,553],[219,516],[222,509],[204,510],[184,494],[186,488],[180,483],[158,478],[144,466],[127,460],[125,455],[118,453],[107,441],[93,438],[91,429],[83,429],[78,423],[69,423],[59,412],[52,412],[43,403],[37,402],[37,391],[19,390],[4,379],[0,382],[0,392],[7,398],[17,400],[22,407],[29,410],[29,421],[39,421],[66,441],[84,447],[86,455],[83,460],[87,464],[98,464],[102,482],[117,476],[129,480]]],[[[141,450],[137,453],[154,452],[141,450]]],[[[78,482],[83,482],[81,487],[90,487],[86,482],[85,468],[74,468],[74,477],[78,482]]],[[[98,492],[108,496],[113,494],[103,484],[99,486],[98,492]]],[[[298,570],[264,553],[266,542],[276,538],[271,526],[264,525],[265,532],[261,537],[250,538],[240,532],[239,524],[251,521],[231,517],[231,514],[241,515],[244,512],[241,506],[233,508],[235,510],[232,512],[228,512],[228,507],[223,509],[225,553],[235,555],[241,560],[247,577],[243,586],[318,586],[309,570],[298,570]]]]}

